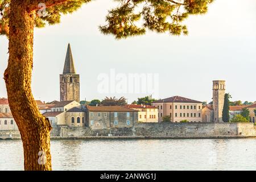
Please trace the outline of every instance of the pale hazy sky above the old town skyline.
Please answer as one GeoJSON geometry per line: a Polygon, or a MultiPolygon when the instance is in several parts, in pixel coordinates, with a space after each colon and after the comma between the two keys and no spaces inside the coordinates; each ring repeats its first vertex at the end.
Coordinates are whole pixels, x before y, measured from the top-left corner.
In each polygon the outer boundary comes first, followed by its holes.
{"type": "MultiPolygon", "coordinates": [[[[98,30],[114,5],[113,0],[93,1],[73,14],[63,15],[60,24],[35,28],[32,93],[36,100],[59,100],[59,75],[70,43],[80,74],[80,100],[124,96],[132,102],[149,95],[152,89],[138,93],[123,89],[129,75],[142,73],[156,79],[152,82],[147,77],[146,84],[152,84],[155,98],[178,95],[210,102],[212,81],[226,80],[226,92],[232,100],[256,101],[255,0],[214,1],[207,14],[190,16],[184,22],[188,36],[147,32],[125,40],[98,30]],[[106,81],[115,89],[99,89],[106,81]]],[[[1,36],[0,75],[7,67],[7,49],[8,40],[1,36]]],[[[7,97],[3,79],[0,97],[7,97]]]]}

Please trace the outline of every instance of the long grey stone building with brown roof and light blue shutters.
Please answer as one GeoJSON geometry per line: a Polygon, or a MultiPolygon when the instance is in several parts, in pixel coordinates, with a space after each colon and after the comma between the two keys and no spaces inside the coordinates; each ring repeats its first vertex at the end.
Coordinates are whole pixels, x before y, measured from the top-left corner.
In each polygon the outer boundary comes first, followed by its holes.
{"type": "Polygon", "coordinates": [[[91,129],[133,127],[138,111],[123,106],[86,106],[87,123],[91,129]]]}

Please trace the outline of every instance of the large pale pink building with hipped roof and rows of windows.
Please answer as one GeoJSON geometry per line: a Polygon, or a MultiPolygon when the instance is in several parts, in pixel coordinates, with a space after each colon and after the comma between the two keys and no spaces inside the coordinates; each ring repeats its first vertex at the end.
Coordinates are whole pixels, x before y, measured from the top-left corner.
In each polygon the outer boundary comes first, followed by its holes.
{"type": "Polygon", "coordinates": [[[152,106],[158,108],[158,121],[162,117],[171,116],[171,122],[188,120],[189,122],[202,122],[202,102],[185,97],[174,96],[154,101],[152,106]]]}

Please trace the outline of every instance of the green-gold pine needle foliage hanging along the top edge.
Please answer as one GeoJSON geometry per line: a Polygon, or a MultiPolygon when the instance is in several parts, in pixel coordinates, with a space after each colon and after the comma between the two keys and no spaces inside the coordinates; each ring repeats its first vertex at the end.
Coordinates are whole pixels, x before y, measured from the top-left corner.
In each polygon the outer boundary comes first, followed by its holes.
{"type": "MultiPolygon", "coordinates": [[[[213,0],[114,0],[117,7],[109,10],[106,23],[100,26],[103,34],[112,34],[117,39],[138,36],[147,30],[169,32],[171,35],[187,35],[187,27],[183,24],[189,15],[207,13],[208,6],[213,0]]],[[[33,2],[33,1],[31,1],[33,2]]],[[[56,3],[47,7],[46,16],[39,17],[35,13],[35,27],[46,24],[60,23],[63,14],[73,13],[83,3],[90,0],[71,0],[56,3]]],[[[10,0],[0,0],[0,34],[7,35],[9,29],[10,0]]]]}

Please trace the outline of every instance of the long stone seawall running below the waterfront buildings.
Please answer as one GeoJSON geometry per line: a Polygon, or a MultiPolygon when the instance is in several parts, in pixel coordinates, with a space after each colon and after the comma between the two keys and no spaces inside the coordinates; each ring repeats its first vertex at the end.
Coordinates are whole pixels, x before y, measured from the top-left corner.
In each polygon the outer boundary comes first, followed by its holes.
{"type": "MultiPolygon", "coordinates": [[[[51,137],[92,136],[211,137],[256,136],[253,123],[135,123],[134,127],[92,130],[88,127],[53,128],[51,137]]],[[[0,131],[0,137],[19,136],[18,131],[0,131]]]]}

